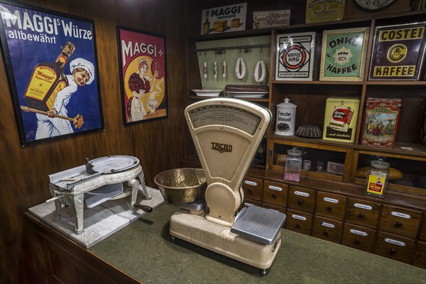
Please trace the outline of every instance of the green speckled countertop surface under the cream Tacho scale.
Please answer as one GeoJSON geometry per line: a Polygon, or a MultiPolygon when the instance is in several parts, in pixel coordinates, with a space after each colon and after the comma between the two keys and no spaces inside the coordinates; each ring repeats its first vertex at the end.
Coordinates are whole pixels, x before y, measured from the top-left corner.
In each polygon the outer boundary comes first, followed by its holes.
{"type": "Polygon", "coordinates": [[[426,284],[426,270],[283,229],[281,248],[266,277],[199,246],[170,241],[161,205],[89,251],[143,283],[409,283],[426,284]]]}

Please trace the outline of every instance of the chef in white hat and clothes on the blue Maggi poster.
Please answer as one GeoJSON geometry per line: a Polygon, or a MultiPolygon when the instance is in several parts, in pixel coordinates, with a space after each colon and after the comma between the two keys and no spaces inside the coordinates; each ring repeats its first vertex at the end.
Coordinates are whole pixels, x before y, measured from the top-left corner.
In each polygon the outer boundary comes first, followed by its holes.
{"type": "Polygon", "coordinates": [[[73,122],[76,129],[82,128],[83,117],[77,115],[74,119],[67,117],[67,104],[78,87],[91,84],[94,80],[94,65],[84,58],[76,58],[70,62],[71,75],[66,75],[67,86],[58,92],[53,108],[44,113],[29,107],[21,107],[23,111],[34,111],[37,117],[35,139],[43,139],[73,133],[73,122]]]}

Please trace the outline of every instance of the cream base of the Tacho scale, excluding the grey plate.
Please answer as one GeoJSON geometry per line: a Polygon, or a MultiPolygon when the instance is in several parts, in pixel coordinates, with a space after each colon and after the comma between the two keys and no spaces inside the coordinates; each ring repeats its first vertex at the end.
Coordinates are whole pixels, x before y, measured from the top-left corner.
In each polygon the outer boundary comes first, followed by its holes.
{"type": "MultiPolygon", "coordinates": [[[[251,241],[232,233],[229,227],[207,221],[204,214],[190,214],[186,209],[170,218],[170,236],[263,270],[272,266],[281,239],[279,231],[271,245],[251,241]]],[[[261,273],[266,275],[266,271],[261,273]]]]}

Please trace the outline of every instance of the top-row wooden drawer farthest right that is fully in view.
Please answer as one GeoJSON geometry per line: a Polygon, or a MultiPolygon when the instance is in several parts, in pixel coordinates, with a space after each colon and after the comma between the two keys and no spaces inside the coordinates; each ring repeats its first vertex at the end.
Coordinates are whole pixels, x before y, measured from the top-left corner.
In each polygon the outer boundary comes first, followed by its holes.
{"type": "Polygon", "coordinates": [[[417,211],[383,205],[380,230],[415,239],[420,217],[421,213],[417,211]]]}

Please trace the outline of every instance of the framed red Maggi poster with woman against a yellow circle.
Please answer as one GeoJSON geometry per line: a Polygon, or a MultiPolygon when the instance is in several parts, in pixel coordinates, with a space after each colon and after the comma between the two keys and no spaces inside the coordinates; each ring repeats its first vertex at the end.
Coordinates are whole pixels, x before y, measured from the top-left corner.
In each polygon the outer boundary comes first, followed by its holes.
{"type": "Polygon", "coordinates": [[[168,116],[165,36],[116,26],[123,124],[168,116]]]}

